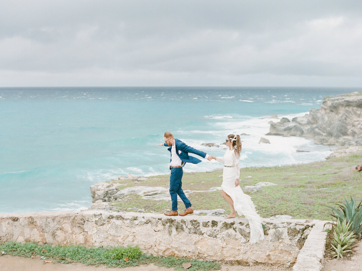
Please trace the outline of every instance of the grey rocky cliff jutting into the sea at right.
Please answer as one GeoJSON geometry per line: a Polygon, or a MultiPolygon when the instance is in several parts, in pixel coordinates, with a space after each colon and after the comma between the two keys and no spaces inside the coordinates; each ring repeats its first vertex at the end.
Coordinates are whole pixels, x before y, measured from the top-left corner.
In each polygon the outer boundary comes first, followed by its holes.
{"type": "Polygon", "coordinates": [[[267,135],[310,137],[323,145],[362,145],[362,94],[327,97],[319,109],[312,108],[304,117],[271,123],[267,135]]]}

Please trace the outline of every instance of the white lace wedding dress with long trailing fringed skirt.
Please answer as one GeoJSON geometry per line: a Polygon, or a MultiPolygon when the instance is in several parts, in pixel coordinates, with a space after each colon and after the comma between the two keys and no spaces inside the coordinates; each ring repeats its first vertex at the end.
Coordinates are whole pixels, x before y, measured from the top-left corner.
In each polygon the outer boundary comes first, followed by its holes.
{"type": "Polygon", "coordinates": [[[240,154],[235,154],[234,150],[227,150],[223,158],[217,157],[216,161],[224,163],[222,190],[228,194],[233,202],[235,211],[239,215],[244,215],[249,221],[250,243],[256,243],[264,240],[264,231],[262,228],[262,219],[255,211],[255,205],[249,195],[243,193],[240,186],[235,187],[235,179],[239,178],[240,154]]]}

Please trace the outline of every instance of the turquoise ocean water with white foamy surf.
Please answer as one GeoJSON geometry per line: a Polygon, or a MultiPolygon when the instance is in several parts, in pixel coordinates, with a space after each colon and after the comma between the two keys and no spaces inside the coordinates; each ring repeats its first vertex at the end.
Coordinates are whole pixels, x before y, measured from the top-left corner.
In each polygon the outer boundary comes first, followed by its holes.
{"type": "MultiPolygon", "coordinates": [[[[312,139],[265,136],[269,117],[303,116],[325,96],[361,89],[278,87],[0,88],[0,213],[81,210],[89,186],[119,175],[168,174],[172,132],[214,156],[230,133],[242,136],[241,166],[323,160],[312,139]],[[260,137],[271,144],[258,144],[260,137]],[[296,152],[306,150],[309,152],[296,152]]],[[[203,160],[185,171],[220,168],[203,160]]],[[[241,179],[243,176],[241,176],[241,179]]],[[[241,184],[242,185],[242,184],[241,184]]]]}

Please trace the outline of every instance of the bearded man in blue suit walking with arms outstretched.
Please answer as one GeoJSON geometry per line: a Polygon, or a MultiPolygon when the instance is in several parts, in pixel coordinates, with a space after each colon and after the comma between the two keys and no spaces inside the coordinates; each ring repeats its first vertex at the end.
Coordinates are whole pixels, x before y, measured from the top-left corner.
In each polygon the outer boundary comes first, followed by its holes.
{"type": "Polygon", "coordinates": [[[176,216],[176,215],[187,215],[192,214],[194,211],[191,209],[191,203],[189,199],[186,197],[184,191],[182,190],[182,175],[184,172],[182,171],[182,167],[186,163],[197,164],[200,163],[201,160],[195,157],[189,156],[189,152],[193,154],[197,154],[202,158],[206,158],[211,161],[211,156],[207,155],[203,151],[199,151],[186,145],[181,140],[177,138],[173,138],[173,134],[170,132],[165,132],[164,134],[165,143],[160,143],[159,146],[166,146],[168,150],[171,152],[171,161],[170,161],[170,195],[172,201],[172,210],[171,212],[164,212],[164,215],[167,216],[176,216]],[[186,210],[183,214],[178,214],[177,212],[177,195],[180,196],[182,201],[185,204],[186,210]]]}

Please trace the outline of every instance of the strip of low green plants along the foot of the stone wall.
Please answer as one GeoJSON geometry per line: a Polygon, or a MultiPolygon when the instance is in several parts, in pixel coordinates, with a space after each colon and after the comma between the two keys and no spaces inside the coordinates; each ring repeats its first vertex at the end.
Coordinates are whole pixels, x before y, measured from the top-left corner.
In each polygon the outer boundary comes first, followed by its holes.
{"type": "MultiPolygon", "coordinates": [[[[138,266],[140,264],[154,263],[157,266],[174,267],[174,270],[185,270],[182,263],[190,262],[192,266],[188,270],[218,270],[220,264],[209,261],[198,261],[185,257],[159,257],[142,253],[138,246],[85,248],[83,246],[52,246],[34,243],[7,242],[0,244],[0,250],[9,255],[31,257],[40,255],[44,259],[52,259],[61,263],[79,262],[86,265],[105,264],[109,267],[138,266]]],[[[1,255],[1,254],[0,254],[1,255]]]]}

